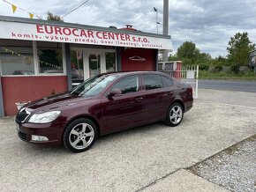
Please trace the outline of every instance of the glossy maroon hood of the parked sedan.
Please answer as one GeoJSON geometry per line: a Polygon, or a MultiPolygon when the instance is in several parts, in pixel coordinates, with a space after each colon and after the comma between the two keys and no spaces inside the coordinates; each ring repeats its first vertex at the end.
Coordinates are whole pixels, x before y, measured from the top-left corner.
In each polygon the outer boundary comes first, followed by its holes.
{"type": "Polygon", "coordinates": [[[40,100],[34,100],[27,103],[26,107],[29,111],[47,111],[47,110],[61,110],[65,106],[74,105],[76,101],[83,100],[85,98],[74,96],[69,92],[56,94],[49,97],[41,98],[40,100]]]}

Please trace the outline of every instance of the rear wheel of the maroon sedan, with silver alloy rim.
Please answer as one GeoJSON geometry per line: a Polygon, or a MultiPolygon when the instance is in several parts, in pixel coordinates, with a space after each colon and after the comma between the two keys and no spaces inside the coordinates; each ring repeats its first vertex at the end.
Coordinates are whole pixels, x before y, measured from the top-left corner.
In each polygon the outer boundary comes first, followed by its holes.
{"type": "Polygon", "coordinates": [[[184,108],[179,103],[173,103],[166,115],[166,122],[171,127],[177,126],[183,120],[184,108]]]}

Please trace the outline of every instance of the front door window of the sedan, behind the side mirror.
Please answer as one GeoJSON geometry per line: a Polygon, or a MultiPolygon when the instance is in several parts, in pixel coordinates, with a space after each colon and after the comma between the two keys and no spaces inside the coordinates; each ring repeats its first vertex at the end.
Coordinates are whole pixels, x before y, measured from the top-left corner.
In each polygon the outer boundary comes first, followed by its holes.
{"type": "Polygon", "coordinates": [[[138,92],[139,91],[139,77],[129,76],[122,78],[115,84],[112,89],[120,89],[123,94],[128,92],[138,92]]]}

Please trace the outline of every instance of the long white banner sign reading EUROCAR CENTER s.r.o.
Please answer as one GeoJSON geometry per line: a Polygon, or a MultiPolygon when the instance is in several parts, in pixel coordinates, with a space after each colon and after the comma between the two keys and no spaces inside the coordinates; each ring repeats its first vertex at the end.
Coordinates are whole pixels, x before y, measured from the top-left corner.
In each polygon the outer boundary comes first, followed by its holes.
{"type": "Polygon", "coordinates": [[[170,39],[131,33],[94,31],[64,26],[48,26],[0,21],[0,39],[69,42],[90,45],[172,50],[170,39]]]}

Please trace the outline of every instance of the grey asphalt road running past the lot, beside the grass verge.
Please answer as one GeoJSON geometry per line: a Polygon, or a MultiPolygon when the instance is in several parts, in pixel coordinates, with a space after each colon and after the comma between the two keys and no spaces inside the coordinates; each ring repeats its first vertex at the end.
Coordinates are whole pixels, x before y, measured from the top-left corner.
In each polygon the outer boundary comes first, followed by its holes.
{"type": "Polygon", "coordinates": [[[256,81],[199,79],[199,88],[256,92],[256,81]]]}

